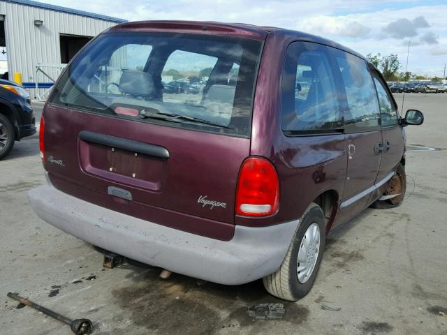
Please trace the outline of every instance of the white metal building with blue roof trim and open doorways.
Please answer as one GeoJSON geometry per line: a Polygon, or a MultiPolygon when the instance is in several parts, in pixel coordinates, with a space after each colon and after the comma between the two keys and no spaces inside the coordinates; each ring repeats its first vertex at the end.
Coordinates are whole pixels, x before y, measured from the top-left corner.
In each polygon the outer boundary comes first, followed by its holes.
{"type": "Polygon", "coordinates": [[[7,76],[13,80],[13,73],[22,73],[31,97],[46,98],[50,77],[55,80],[91,38],[122,22],[36,1],[0,0],[0,53],[6,51],[7,76]]]}

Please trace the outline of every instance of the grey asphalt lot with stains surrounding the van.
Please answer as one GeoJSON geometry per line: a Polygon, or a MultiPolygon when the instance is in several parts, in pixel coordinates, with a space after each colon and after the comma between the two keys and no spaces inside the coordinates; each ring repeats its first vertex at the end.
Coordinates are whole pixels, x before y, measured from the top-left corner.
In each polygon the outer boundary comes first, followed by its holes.
{"type": "Polygon", "coordinates": [[[132,265],[103,269],[101,253],[34,214],[27,191],[44,183],[38,135],[17,142],[0,162],[0,333],[72,334],[6,297],[19,292],[91,319],[94,334],[447,335],[446,105],[447,94],[406,94],[404,110],[422,110],[425,123],[406,128],[404,203],[367,209],[330,234],[314,288],[284,302],[282,320],[247,315],[252,304],[280,302],[261,281],[225,286],[179,274],[161,280],[159,269],[132,265]]]}

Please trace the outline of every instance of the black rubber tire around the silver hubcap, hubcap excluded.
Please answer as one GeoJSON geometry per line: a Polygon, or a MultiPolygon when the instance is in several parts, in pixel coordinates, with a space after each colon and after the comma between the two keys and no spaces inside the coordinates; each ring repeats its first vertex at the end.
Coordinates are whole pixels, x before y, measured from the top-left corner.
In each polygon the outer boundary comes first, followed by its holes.
{"type": "MultiPolygon", "coordinates": [[[[325,218],[323,211],[318,204],[312,203],[307,207],[305,214],[300,218],[300,225],[293,234],[291,245],[288,247],[286,257],[284,258],[281,267],[268,276],[263,278],[265,289],[278,297],[288,301],[297,301],[305,297],[310,292],[314,285],[318,269],[320,267],[321,258],[323,256],[323,249],[325,244],[325,218]],[[319,246],[316,251],[316,262],[306,279],[305,283],[300,283],[298,280],[298,252],[302,248],[307,228],[313,223],[318,225],[320,231],[319,246]]],[[[314,248],[315,250],[316,248],[314,248]]]]}

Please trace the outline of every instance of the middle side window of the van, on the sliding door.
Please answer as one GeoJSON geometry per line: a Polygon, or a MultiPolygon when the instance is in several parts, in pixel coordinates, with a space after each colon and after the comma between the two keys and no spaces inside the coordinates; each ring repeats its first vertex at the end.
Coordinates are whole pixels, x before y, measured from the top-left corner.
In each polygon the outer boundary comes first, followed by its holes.
{"type": "Polygon", "coordinates": [[[373,131],[380,128],[380,111],[376,89],[365,61],[346,52],[338,52],[337,64],[344,90],[346,131],[373,131]]]}

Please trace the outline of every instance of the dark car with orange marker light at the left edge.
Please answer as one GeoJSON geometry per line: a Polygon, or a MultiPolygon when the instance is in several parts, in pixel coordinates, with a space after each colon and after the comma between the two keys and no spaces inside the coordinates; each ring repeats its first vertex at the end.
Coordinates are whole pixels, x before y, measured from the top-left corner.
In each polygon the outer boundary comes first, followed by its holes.
{"type": "Polygon", "coordinates": [[[10,153],[15,141],[34,133],[36,120],[27,90],[0,79],[0,160],[10,153]]]}

